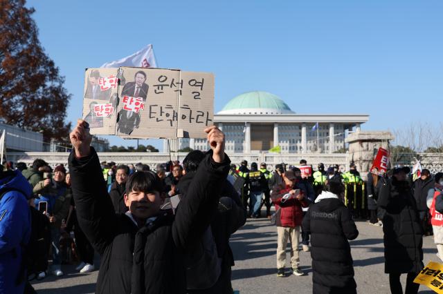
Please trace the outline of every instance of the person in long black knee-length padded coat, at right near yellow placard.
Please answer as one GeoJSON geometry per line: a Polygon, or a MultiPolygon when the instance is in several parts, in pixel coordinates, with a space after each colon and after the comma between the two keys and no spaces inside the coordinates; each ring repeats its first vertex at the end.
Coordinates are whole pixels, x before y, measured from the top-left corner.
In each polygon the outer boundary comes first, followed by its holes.
{"type": "Polygon", "coordinates": [[[406,175],[410,169],[395,168],[390,179],[382,179],[378,206],[383,215],[385,273],[389,274],[392,293],[403,293],[400,275],[408,273],[406,293],[417,293],[419,284],[413,280],[423,268],[423,231],[417,204],[406,175]]]}

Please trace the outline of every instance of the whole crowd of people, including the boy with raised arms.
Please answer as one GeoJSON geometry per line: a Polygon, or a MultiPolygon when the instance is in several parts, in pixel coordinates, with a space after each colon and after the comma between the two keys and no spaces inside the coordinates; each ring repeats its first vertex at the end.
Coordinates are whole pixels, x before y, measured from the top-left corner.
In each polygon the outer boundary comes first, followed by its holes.
{"type": "Polygon", "coordinates": [[[216,127],[206,133],[207,153],[151,169],[100,163],[79,121],[67,166],[35,159],[30,167],[2,167],[0,290],[35,293],[29,281],[61,277],[66,262],[89,273],[98,253],[97,293],[233,293],[229,239],[247,217],[277,227],[278,277],[287,275],[288,242],[293,275],[305,275],[300,248],[310,252],[314,293],[356,293],[349,243],[359,235],[356,217],[383,228],[392,293],[403,293],[403,273],[406,293],[417,293],[424,235],[434,236],[443,260],[443,173],[424,169],[413,181],[408,167],[397,167],[363,181],[354,164],[346,173],[318,164],[311,174],[304,159],[235,166],[224,134],[216,127]]]}

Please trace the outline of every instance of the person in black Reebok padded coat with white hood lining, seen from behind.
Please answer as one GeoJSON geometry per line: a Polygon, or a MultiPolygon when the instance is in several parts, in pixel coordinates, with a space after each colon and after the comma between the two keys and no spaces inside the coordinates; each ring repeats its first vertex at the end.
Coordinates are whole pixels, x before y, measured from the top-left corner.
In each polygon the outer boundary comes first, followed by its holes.
{"type": "Polygon", "coordinates": [[[350,244],[359,235],[343,204],[345,187],[329,182],[305,215],[303,230],[311,235],[313,293],[356,293],[350,244]]]}

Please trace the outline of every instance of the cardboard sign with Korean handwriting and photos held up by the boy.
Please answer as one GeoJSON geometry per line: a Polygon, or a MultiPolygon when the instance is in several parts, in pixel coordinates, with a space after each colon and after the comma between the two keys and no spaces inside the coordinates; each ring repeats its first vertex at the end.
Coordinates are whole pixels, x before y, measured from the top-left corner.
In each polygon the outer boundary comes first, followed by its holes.
{"type": "Polygon", "coordinates": [[[206,138],[214,75],[162,68],[89,68],[83,117],[93,135],[125,139],[206,138]]]}

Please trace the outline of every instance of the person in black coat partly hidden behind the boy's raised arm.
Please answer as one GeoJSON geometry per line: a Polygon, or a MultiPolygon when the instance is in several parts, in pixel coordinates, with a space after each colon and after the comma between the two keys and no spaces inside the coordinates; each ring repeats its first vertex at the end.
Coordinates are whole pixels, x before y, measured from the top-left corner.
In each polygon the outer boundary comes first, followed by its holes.
{"type": "MultiPolygon", "coordinates": [[[[183,160],[186,175],[181,177],[178,189],[181,197],[186,197],[188,188],[195,178],[200,161],[205,157],[200,150],[194,150],[183,160]]],[[[229,246],[230,235],[246,222],[246,210],[234,187],[226,179],[221,191],[217,212],[210,228],[205,232],[200,246],[196,246],[187,255],[186,280],[188,293],[225,294],[233,293],[231,284],[231,266],[234,256],[229,246]],[[214,241],[212,241],[214,240],[214,241]],[[215,246],[213,246],[215,245],[215,246]],[[208,253],[215,247],[215,254],[208,253]]]]}

